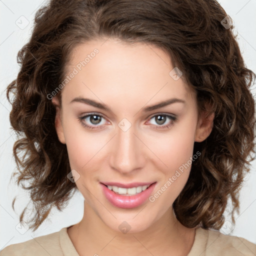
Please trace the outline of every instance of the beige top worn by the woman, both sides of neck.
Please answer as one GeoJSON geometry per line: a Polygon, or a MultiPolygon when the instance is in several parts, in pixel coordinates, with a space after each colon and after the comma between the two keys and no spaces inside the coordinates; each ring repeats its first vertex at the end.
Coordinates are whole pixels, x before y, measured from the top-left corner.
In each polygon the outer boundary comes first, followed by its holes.
{"type": "MultiPolygon", "coordinates": [[[[0,256],[79,256],[68,234],[67,227],[58,232],[11,244],[0,251],[0,256]]],[[[187,256],[255,256],[256,244],[218,231],[195,229],[193,246],[187,256]]]]}

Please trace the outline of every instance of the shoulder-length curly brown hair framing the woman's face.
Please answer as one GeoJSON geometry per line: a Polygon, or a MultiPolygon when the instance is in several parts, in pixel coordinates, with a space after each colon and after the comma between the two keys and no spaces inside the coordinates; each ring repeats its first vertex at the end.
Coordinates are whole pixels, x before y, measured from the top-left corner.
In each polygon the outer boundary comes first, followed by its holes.
{"type": "MultiPolygon", "coordinates": [[[[47,95],[63,80],[76,45],[110,37],[166,51],[196,91],[199,113],[214,112],[213,129],[194,143],[201,155],[173,203],[177,219],[186,227],[218,230],[230,198],[234,222],[238,192],[254,159],[249,88],[255,74],[245,67],[233,26],[222,25],[226,19],[215,0],[51,0],[36,12],[30,40],[17,55],[20,70],[7,87],[10,123],[20,135],[13,146],[18,169],[13,176],[18,175],[17,184],[29,183],[22,187],[35,210],[30,228],[36,230],[52,207],[63,209],[77,189],[67,178],[67,148],[58,140],[56,109],[47,95]]],[[[61,100],[61,91],[57,97],[61,100]]]]}

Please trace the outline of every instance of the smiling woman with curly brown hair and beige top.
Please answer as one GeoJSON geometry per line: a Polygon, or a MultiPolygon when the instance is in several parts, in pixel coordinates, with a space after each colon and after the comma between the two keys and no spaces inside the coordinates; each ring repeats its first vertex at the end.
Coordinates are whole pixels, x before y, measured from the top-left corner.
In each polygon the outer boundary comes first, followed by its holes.
{"type": "Polygon", "coordinates": [[[75,189],[84,214],[0,255],[256,254],[218,231],[254,152],[254,73],[231,28],[214,0],[40,9],[7,88],[17,180],[30,181],[33,230],[75,189]]]}

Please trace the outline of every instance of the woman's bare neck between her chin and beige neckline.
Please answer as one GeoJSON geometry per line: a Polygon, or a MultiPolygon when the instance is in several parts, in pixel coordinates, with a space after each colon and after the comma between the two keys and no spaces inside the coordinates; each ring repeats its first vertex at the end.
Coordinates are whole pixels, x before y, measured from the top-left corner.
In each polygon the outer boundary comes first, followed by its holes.
{"type": "Polygon", "coordinates": [[[185,256],[193,244],[194,231],[194,228],[183,226],[170,207],[148,228],[139,232],[123,233],[107,226],[85,201],[82,220],[67,229],[80,256],[97,254],[185,256]]]}

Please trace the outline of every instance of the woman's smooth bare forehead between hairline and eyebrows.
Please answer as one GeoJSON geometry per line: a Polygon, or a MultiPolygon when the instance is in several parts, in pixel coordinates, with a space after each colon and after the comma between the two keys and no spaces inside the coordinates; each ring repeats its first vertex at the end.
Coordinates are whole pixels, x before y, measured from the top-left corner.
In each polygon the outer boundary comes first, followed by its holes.
{"type": "Polygon", "coordinates": [[[170,56],[156,45],[110,38],[93,40],[72,50],[65,73],[75,75],[64,90],[69,97],[91,94],[88,90],[93,89],[96,95],[126,95],[130,100],[157,100],[170,93],[173,97],[189,96],[191,90],[182,76],[175,79],[175,71],[170,56]]]}

